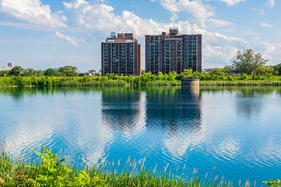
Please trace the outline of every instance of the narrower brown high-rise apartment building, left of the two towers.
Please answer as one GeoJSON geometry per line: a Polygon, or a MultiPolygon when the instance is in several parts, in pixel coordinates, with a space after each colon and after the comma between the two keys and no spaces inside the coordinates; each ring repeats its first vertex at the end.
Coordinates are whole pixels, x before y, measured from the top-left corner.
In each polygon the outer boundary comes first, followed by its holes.
{"type": "Polygon", "coordinates": [[[141,45],[131,33],[112,32],[111,37],[101,43],[102,76],[118,74],[119,76],[141,75],[141,45]]]}

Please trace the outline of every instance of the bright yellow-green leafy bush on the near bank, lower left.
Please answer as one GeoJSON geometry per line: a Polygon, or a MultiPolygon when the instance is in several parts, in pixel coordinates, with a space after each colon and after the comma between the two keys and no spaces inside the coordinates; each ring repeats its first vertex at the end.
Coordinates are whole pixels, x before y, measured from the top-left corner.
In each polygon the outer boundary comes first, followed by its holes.
{"type": "Polygon", "coordinates": [[[41,158],[39,166],[26,165],[33,175],[27,183],[33,186],[103,186],[103,181],[97,176],[90,177],[86,172],[74,174],[70,167],[63,165],[66,158],[58,160],[58,155],[51,153],[44,146],[44,153],[37,153],[41,158]]]}

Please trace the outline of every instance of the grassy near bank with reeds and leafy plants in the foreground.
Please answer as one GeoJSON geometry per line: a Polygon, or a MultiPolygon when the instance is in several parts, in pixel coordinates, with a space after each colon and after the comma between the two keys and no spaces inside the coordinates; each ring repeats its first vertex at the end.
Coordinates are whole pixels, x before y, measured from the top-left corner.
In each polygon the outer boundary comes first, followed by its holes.
{"type": "MultiPolygon", "coordinates": [[[[192,176],[183,179],[183,172],[177,176],[171,175],[168,165],[158,171],[144,169],[145,159],[126,160],[122,171],[112,171],[113,165],[119,166],[119,161],[104,162],[100,167],[73,167],[64,165],[65,158],[59,160],[58,155],[42,148],[43,153],[37,153],[41,161],[28,165],[25,161],[13,160],[2,151],[0,155],[0,186],[249,186],[250,183],[233,183],[216,176],[204,179],[192,176]]],[[[194,171],[196,174],[197,169],[194,171]]]]}

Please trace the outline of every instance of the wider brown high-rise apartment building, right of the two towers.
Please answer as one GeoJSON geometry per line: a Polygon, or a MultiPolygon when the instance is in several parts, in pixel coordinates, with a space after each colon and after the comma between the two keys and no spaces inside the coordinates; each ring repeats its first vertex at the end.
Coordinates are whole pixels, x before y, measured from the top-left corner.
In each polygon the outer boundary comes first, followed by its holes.
{"type": "Polygon", "coordinates": [[[178,34],[170,28],[169,34],[145,35],[145,71],[152,74],[177,74],[184,69],[202,71],[202,35],[178,34]]]}

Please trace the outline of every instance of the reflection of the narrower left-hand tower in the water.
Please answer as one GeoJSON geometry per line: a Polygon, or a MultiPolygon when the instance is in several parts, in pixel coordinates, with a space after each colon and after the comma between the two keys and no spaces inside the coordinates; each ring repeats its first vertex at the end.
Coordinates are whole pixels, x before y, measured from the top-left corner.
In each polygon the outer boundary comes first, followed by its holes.
{"type": "Polygon", "coordinates": [[[122,131],[130,139],[145,130],[146,97],[140,88],[106,88],[102,91],[102,124],[122,131]]]}

